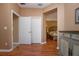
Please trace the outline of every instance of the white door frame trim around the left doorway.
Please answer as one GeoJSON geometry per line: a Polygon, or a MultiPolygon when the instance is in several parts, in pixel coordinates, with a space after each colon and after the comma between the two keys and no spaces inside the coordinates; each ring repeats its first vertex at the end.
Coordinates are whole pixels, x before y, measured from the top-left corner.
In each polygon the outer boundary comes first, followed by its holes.
{"type": "MultiPolygon", "coordinates": [[[[16,11],[14,11],[13,9],[11,9],[11,40],[12,40],[12,48],[11,49],[12,50],[13,50],[13,14],[17,15],[18,17],[20,17],[20,15],[16,11]]],[[[15,43],[15,44],[19,44],[19,42],[15,43]]]]}

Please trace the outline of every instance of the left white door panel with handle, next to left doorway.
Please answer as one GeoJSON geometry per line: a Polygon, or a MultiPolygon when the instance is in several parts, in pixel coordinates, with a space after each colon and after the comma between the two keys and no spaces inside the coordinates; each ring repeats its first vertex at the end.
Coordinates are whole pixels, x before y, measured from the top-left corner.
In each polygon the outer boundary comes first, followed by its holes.
{"type": "Polygon", "coordinates": [[[20,17],[19,37],[21,44],[31,44],[31,17],[20,17]]]}

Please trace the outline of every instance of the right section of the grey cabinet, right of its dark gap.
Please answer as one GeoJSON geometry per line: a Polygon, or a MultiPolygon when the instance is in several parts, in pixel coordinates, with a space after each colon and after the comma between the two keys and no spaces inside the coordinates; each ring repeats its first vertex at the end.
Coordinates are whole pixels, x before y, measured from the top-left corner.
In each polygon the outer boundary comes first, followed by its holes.
{"type": "Polygon", "coordinates": [[[79,56],[79,35],[72,35],[72,55],[79,56]]]}

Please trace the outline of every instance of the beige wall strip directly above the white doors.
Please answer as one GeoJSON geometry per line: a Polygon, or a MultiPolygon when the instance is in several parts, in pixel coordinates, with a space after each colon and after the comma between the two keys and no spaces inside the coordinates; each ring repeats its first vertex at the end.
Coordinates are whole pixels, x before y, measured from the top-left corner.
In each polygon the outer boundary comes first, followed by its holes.
{"type": "Polygon", "coordinates": [[[21,16],[40,16],[42,15],[42,9],[39,8],[21,8],[21,16]]]}

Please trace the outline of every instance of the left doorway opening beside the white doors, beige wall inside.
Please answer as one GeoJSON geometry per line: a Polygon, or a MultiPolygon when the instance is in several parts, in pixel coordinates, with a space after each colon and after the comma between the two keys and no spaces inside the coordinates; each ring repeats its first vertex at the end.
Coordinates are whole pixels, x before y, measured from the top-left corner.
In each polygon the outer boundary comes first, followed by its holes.
{"type": "Polygon", "coordinates": [[[19,15],[12,10],[12,48],[19,44],[19,15]]]}

